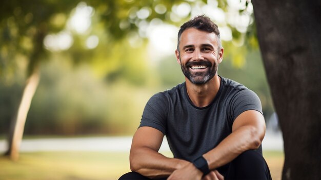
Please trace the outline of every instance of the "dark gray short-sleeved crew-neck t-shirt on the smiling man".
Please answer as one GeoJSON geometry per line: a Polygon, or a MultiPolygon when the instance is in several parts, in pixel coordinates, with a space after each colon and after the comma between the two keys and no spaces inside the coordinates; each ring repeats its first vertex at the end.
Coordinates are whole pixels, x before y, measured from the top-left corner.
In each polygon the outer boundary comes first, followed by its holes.
{"type": "Polygon", "coordinates": [[[230,79],[221,77],[213,102],[202,108],[193,105],[182,83],[149,99],[139,127],[163,132],[174,157],[191,162],[227,137],[235,118],[247,110],[262,113],[258,96],[230,79]]]}

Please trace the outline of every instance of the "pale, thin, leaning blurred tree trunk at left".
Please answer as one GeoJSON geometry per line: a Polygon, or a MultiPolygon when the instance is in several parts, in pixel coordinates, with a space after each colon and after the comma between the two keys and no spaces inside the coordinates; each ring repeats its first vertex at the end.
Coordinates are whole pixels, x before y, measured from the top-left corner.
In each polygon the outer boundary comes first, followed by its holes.
{"type": "Polygon", "coordinates": [[[17,161],[19,158],[19,148],[24,134],[25,123],[27,114],[30,108],[30,104],[33,95],[39,84],[39,70],[35,68],[33,73],[26,81],[26,86],[22,95],[21,102],[15,118],[12,121],[10,134],[8,138],[9,148],[6,155],[9,155],[11,159],[17,161]]]}

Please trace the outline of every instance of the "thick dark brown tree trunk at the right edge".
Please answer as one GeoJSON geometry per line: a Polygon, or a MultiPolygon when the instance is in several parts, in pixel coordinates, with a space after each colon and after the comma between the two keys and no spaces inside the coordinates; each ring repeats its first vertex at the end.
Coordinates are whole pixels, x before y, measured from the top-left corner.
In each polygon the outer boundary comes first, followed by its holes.
{"type": "Polygon", "coordinates": [[[283,132],[282,179],[320,179],[321,3],[252,3],[258,42],[283,132]]]}

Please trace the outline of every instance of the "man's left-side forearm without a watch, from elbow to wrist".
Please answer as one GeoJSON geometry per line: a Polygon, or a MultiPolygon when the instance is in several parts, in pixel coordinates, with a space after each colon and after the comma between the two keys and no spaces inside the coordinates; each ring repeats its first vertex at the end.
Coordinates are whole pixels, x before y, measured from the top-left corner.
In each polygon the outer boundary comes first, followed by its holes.
{"type": "Polygon", "coordinates": [[[188,162],[169,158],[148,147],[136,148],[130,153],[130,168],[149,178],[169,176],[188,162]]]}

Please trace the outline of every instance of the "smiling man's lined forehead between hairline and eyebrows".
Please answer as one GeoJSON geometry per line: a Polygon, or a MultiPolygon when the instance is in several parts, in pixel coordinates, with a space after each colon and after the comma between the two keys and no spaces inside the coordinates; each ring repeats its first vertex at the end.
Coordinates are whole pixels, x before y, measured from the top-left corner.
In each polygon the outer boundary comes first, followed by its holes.
{"type": "Polygon", "coordinates": [[[217,36],[214,32],[201,31],[196,28],[189,28],[183,31],[180,36],[179,47],[189,45],[203,45],[211,44],[213,47],[217,46],[217,36]]]}

